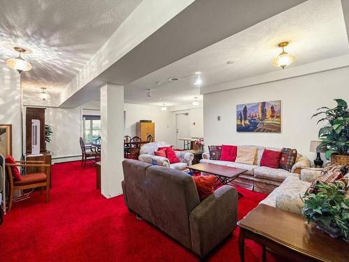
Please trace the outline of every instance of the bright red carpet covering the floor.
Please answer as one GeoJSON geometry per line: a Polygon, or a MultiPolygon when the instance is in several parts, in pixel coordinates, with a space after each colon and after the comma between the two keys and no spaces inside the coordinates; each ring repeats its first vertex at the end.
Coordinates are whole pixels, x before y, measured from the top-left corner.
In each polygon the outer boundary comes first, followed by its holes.
{"type": "MultiPolygon", "coordinates": [[[[265,198],[239,189],[239,219],[265,198]]],[[[80,162],[52,166],[51,201],[45,194],[13,204],[0,226],[0,261],[198,261],[146,221],[128,212],[122,196],[96,190],[95,168],[80,162]]],[[[209,261],[239,261],[235,229],[209,261]]],[[[246,261],[261,261],[261,247],[246,242],[246,261]]],[[[270,254],[268,261],[275,261],[270,254]]]]}

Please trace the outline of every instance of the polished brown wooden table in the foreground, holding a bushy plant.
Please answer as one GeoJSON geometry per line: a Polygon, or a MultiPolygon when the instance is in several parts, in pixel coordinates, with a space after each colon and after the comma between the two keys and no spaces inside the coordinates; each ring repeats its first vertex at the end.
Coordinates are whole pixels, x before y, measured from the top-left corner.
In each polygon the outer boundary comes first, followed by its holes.
{"type": "Polygon", "coordinates": [[[304,224],[300,214],[260,204],[237,225],[242,262],[245,238],[262,245],[262,261],[265,261],[265,247],[291,261],[349,261],[348,243],[304,224]]]}

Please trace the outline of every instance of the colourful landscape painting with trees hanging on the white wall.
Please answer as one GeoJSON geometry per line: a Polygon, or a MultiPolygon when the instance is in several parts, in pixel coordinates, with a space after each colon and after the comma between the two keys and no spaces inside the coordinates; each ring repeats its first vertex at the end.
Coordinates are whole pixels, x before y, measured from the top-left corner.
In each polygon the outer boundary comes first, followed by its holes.
{"type": "Polygon", "coordinates": [[[237,132],[281,132],[281,101],[237,105],[237,132]]]}

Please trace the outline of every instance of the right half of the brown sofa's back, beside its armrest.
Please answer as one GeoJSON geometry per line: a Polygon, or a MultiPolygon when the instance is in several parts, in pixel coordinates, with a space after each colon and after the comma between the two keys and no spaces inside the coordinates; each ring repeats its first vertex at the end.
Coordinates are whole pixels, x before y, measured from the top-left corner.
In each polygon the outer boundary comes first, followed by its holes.
{"type": "Polygon", "coordinates": [[[147,168],[147,196],[153,224],[191,249],[189,214],[200,203],[191,175],[173,168],[147,168]]]}

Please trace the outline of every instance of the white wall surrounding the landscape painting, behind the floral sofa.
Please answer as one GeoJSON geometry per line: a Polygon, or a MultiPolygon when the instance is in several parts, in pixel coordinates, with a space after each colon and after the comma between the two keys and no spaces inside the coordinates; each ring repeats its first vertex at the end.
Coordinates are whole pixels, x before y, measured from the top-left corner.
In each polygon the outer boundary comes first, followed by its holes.
{"type": "Polygon", "coordinates": [[[336,105],[333,99],[349,102],[349,68],[304,75],[252,87],[204,95],[206,145],[262,145],[291,147],[309,159],[311,140],[324,124],[311,116],[317,108],[336,105]],[[236,106],[241,103],[281,100],[281,133],[237,133],[236,106]],[[221,116],[221,121],[217,117],[221,116]]]}

